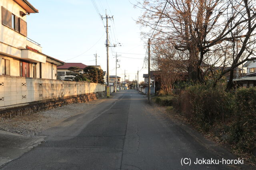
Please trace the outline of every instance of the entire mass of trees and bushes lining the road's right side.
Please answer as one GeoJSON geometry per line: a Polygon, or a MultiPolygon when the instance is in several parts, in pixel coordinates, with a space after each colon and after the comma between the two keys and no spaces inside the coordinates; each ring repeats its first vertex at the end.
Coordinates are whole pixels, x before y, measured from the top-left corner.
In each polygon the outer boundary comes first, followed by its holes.
{"type": "Polygon", "coordinates": [[[143,0],[137,23],[150,41],[156,103],[255,162],[256,88],[239,88],[256,61],[254,0],[143,0]],[[239,71],[240,70],[240,71],[239,71]],[[238,81],[239,82],[239,81],[238,81]],[[253,154],[254,153],[254,154],[253,154]]]}

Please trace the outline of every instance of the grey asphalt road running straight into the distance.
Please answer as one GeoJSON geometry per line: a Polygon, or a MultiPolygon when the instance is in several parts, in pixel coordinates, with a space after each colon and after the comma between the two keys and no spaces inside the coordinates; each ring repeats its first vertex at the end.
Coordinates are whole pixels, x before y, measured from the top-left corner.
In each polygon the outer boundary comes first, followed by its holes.
{"type": "Polygon", "coordinates": [[[6,170],[235,169],[222,164],[181,165],[182,158],[220,160],[180,125],[166,120],[135,90],[120,91],[96,109],[44,133],[46,142],[3,166],[6,170]]]}

